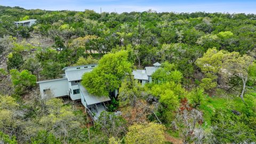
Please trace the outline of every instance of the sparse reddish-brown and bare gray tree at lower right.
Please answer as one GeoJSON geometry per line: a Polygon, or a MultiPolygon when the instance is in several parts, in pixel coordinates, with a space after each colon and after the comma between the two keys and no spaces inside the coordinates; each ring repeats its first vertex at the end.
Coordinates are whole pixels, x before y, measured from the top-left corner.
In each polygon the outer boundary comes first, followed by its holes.
{"type": "Polygon", "coordinates": [[[181,100],[181,106],[172,124],[174,129],[181,132],[184,144],[203,143],[203,115],[199,110],[191,108],[186,98],[181,100]]]}

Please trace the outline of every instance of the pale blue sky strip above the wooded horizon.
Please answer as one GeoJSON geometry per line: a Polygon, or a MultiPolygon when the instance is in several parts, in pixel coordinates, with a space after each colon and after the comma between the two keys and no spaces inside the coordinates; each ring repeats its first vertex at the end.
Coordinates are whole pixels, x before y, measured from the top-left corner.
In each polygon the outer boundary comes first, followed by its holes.
{"type": "Polygon", "coordinates": [[[95,12],[228,12],[256,13],[256,0],[0,0],[0,5],[25,9],[75,10],[95,12]]]}

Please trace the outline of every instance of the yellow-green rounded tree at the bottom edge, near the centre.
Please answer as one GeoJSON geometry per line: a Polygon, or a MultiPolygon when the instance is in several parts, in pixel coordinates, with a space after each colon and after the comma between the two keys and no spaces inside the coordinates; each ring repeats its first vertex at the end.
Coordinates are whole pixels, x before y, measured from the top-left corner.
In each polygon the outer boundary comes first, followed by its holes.
{"type": "Polygon", "coordinates": [[[125,143],[164,143],[164,130],[161,124],[134,124],[128,127],[125,143]]]}

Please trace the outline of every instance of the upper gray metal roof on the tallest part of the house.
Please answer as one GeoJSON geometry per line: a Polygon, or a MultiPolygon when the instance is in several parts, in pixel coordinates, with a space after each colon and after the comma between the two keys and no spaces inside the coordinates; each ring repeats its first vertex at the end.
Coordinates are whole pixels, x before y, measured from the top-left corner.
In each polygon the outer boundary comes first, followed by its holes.
{"type": "Polygon", "coordinates": [[[84,73],[88,73],[92,71],[93,68],[83,68],[83,69],[76,69],[76,70],[68,70],[66,71],[66,77],[68,81],[77,81],[81,80],[84,73]]]}

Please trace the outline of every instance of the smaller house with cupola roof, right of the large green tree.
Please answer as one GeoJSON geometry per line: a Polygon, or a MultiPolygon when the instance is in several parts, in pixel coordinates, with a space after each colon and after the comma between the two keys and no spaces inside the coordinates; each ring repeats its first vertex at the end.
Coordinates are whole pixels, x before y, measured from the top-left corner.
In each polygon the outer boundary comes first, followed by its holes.
{"type": "Polygon", "coordinates": [[[145,85],[146,83],[152,82],[152,74],[161,66],[161,63],[156,62],[153,64],[153,67],[145,67],[145,69],[136,69],[132,71],[134,79],[145,85]]]}

